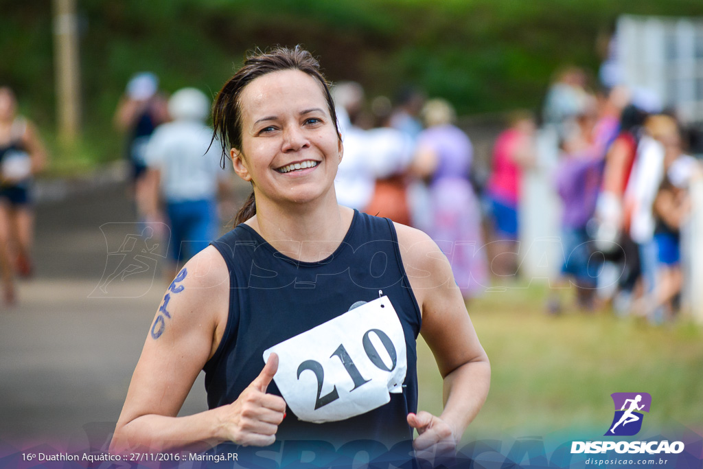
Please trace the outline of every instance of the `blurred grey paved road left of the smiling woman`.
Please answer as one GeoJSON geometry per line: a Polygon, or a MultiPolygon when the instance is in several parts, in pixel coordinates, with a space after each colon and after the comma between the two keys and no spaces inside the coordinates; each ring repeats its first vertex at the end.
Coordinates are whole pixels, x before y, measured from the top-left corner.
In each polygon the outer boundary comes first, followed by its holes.
{"type": "MultiPolygon", "coordinates": [[[[20,283],[18,307],[0,304],[0,446],[114,428],[167,286],[160,250],[141,252],[133,219],[115,183],[37,207],[36,276],[20,283]],[[143,271],[105,285],[127,259],[143,271]]],[[[205,409],[201,373],[182,412],[205,409]]]]}

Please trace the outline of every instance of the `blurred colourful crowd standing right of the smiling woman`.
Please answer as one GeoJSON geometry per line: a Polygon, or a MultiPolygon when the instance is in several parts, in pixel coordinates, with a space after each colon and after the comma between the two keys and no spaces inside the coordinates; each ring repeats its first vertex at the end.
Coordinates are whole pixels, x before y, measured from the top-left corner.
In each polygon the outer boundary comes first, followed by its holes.
{"type": "Polygon", "coordinates": [[[671,320],[681,307],[689,189],[703,176],[690,151],[697,134],[647,90],[604,77],[589,82],[573,66],[555,76],[541,115],[508,113],[483,173],[451,103],[417,89],[365,100],[360,84],[336,84],[345,145],[335,181],[340,202],[430,234],[470,300],[520,276],[521,249],[529,246],[520,220],[531,217],[521,204],[522,179],[542,173],[560,219],[554,274],[562,279],[547,311],[612,306],[654,323],[671,320]],[[545,146],[557,154],[553,165],[541,158],[545,146]]]}

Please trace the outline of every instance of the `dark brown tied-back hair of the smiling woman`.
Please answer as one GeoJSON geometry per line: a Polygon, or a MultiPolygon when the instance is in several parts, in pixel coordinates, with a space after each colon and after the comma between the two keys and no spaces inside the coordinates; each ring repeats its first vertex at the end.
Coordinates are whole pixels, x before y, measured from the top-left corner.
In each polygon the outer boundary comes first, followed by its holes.
{"type": "MultiPolygon", "coordinates": [[[[231,148],[241,150],[242,110],[240,96],[242,90],[254,79],[281,70],[300,70],[320,82],[327,99],[330,116],[337,130],[337,136],[340,135],[339,127],[337,127],[335,103],[330,94],[330,84],[320,72],[320,64],[311,53],[301,46],[295,46],[293,49],[278,46],[269,52],[252,51],[247,55],[242,68],[222,86],[212,106],[212,126],[214,127],[212,142],[218,140],[222,146],[222,167],[224,167],[224,160],[228,158],[231,148]]],[[[235,226],[250,219],[256,213],[257,207],[252,189],[249,198],[237,213],[235,226]]]]}

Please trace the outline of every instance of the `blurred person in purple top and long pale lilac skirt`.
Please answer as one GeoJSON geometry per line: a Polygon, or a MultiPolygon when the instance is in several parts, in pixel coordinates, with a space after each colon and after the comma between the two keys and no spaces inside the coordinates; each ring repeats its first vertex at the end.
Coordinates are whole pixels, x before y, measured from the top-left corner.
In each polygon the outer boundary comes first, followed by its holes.
{"type": "Polygon", "coordinates": [[[428,234],[451,260],[456,283],[468,299],[488,284],[481,212],[468,178],[473,149],[468,136],[453,124],[456,115],[446,101],[427,101],[423,117],[427,129],[418,137],[413,172],[429,181],[428,234]]]}

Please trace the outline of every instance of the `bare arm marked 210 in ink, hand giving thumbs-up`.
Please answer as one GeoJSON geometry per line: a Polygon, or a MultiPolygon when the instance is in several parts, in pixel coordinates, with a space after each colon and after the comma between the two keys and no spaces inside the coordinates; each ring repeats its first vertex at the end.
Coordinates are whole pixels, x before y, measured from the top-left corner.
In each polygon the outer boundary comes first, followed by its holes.
{"type": "Polygon", "coordinates": [[[265,394],[278,368],[276,356],[232,404],[176,417],[219,345],[228,300],[226,264],[211,246],[193,257],[167,289],[132,376],[112,451],[198,451],[224,441],[273,442],[285,412],[283,399],[265,394]]]}

